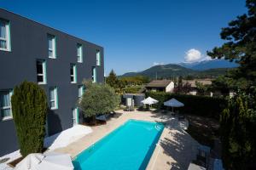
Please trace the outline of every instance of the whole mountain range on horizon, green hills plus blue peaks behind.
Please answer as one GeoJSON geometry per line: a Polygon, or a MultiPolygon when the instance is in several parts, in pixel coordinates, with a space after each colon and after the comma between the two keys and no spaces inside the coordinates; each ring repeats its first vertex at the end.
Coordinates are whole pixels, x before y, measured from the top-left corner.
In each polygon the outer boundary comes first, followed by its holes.
{"type": "Polygon", "coordinates": [[[170,78],[178,76],[191,77],[218,77],[226,71],[238,66],[224,59],[205,60],[196,63],[179,63],[154,65],[144,71],[127,72],[120,77],[146,76],[150,78],[170,78]]]}

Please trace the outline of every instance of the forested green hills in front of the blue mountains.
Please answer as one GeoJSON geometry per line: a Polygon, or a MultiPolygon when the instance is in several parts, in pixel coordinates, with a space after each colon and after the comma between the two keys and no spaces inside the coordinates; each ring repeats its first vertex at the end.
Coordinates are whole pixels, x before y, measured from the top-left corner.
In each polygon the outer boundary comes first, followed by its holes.
{"type": "Polygon", "coordinates": [[[145,71],[140,72],[127,72],[120,77],[133,77],[133,76],[146,76],[150,78],[170,78],[170,77],[178,77],[178,76],[191,76],[191,77],[218,77],[219,75],[223,75],[226,71],[230,70],[230,68],[214,68],[207,69],[203,71],[196,71],[181,65],[155,65],[150,67],[145,71]]]}

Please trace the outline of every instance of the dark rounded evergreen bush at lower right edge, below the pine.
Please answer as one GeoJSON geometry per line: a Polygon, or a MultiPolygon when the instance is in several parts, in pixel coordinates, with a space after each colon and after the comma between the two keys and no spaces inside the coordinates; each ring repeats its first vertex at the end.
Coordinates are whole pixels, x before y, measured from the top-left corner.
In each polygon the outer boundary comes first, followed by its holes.
{"type": "Polygon", "coordinates": [[[255,169],[255,96],[237,94],[230,99],[221,117],[223,158],[228,169],[255,169]]]}

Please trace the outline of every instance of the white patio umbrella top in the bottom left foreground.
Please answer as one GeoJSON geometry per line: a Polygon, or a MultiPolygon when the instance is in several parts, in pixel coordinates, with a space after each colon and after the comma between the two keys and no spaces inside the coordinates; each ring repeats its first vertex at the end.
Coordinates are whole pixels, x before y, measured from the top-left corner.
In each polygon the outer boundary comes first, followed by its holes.
{"type": "Polygon", "coordinates": [[[73,170],[73,163],[68,154],[50,152],[30,154],[15,167],[15,170],[73,170]]]}

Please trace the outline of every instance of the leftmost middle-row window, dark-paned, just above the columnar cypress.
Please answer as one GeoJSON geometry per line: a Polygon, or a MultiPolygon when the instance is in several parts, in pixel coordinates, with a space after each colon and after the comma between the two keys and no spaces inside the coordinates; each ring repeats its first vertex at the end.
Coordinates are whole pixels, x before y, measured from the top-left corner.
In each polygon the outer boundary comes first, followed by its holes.
{"type": "Polygon", "coordinates": [[[46,84],[46,61],[37,60],[37,78],[38,84],[46,84]]]}

